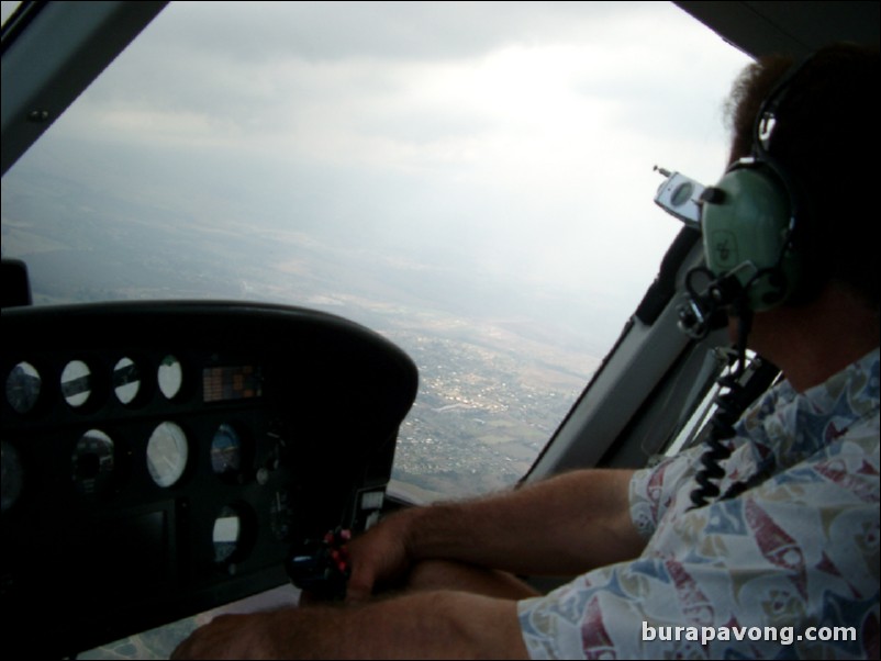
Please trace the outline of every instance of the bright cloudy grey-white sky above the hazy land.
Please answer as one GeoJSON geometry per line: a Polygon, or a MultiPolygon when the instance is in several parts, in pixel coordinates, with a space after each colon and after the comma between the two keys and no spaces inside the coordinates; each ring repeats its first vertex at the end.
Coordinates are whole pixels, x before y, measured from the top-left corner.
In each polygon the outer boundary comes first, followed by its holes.
{"type": "Polygon", "coordinates": [[[172,2],[35,158],[194,223],[577,296],[611,335],[680,227],[653,166],[722,172],[747,61],[662,2],[172,2]]]}

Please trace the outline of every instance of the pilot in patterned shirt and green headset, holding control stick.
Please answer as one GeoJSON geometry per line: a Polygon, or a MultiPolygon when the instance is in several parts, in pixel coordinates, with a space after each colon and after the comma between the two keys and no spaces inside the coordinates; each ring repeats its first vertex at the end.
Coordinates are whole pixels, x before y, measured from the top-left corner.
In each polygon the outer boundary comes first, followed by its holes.
{"type": "Polygon", "coordinates": [[[222,616],[177,657],[879,658],[878,65],[830,46],[734,86],[704,223],[761,198],[756,175],[798,213],[772,264],[724,288],[785,380],[725,441],[713,493],[696,447],[406,509],[350,545],[346,605],[222,616]],[[539,594],[515,574],[578,578],[539,594]]]}

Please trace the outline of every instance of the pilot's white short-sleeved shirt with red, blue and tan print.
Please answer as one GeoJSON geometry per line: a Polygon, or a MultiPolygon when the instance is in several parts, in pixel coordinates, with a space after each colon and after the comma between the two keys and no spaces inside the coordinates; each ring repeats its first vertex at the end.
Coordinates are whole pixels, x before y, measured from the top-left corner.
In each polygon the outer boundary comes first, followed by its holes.
{"type": "Polygon", "coordinates": [[[692,509],[703,448],[637,471],[643,554],[520,602],[534,659],[879,658],[879,350],[771,389],[731,442],[722,493],[770,477],[692,509]]]}

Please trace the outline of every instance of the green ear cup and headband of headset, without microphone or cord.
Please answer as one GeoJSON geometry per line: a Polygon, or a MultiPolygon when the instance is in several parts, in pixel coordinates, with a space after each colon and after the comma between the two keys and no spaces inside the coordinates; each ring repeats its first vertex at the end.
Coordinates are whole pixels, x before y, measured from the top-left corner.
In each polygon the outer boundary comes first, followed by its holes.
{"type": "Polygon", "coordinates": [[[807,224],[803,191],[768,152],[780,104],[804,64],[790,67],[762,102],[752,155],[734,163],[701,195],[706,268],[715,278],[736,278],[752,312],[792,301],[805,281],[795,243],[807,224]]]}

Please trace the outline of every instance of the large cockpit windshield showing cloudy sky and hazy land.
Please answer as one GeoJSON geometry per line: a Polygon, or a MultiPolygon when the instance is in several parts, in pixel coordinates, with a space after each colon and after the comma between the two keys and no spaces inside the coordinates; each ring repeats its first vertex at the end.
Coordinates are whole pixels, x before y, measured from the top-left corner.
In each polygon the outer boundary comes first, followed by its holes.
{"type": "Polygon", "coordinates": [[[666,3],[172,2],[3,178],[2,254],[38,305],[360,322],[421,372],[393,489],[502,488],[680,228],[653,166],[724,166],[746,61],[666,3]]]}

